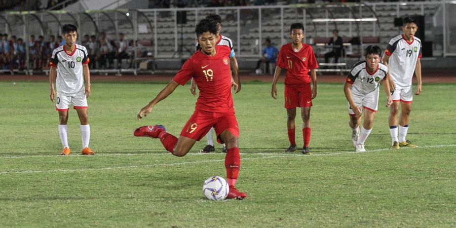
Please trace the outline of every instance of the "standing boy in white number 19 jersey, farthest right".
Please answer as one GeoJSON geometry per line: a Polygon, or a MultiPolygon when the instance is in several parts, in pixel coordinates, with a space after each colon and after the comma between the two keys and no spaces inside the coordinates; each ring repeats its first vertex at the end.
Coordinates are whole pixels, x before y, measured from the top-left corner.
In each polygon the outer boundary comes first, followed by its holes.
{"type": "Polygon", "coordinates": [[[390,87],[393,96],[393,104],[390,107],[390,134],[393,149],[400,146],[416,147],[405,137],[408,131],[409,115],[411,111],[412,77],[416,75],[416,95],[421,93],[421,40],[414,36],[418,26],[416,21],[407,17],[404,18],[404,25],[401,35],[391,39],[385,50],[383,63],[390,69],[390,87]],[[397,113],[399,112],[399,101],[401,102],[401,114],[399,116],[399,129],[397,126],[397,113]],[[399,137],[398,137],[399,130],[399,137]]]}

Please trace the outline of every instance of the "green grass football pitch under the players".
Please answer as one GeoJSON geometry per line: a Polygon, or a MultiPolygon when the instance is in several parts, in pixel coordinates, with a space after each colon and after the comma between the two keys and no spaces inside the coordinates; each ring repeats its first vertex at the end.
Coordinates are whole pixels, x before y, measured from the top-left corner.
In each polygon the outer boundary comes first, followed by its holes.
{"type": "MultiPolygon", "coordinates": [[[[58,114],[45,82],[0,82],[0,227],[454,227],[456,85],[424,85],[414,96],[408,139],[419,148],[390,150],[381,94],[366,153],[355,153],[341,84],[319,84],[311,111],[311,156],[288,146],[283,85],[243,84],[234,95],[241,130],[243,201],[202,194],[225,176],[221,146],[205,139],[178,158],[133,130],[164,124],[178,135],[196,98],[179,87],[141,122],[136,113],[164,83],[93,83],[91,147],[80,156],[79,120],[69,114],[71,156],[58,156],[58,114]]],[[[300,126],[300,118],[296,125],[300,126]]],[[[302,134],[296,131],[302,146],[302,134]]]]}

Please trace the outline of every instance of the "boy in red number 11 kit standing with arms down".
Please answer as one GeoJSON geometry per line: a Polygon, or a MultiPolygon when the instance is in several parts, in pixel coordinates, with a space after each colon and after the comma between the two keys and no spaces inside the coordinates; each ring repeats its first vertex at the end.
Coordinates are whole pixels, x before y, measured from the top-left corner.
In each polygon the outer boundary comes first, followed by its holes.
{"type": "Polygon", "coordinates": [[[290,140],[290,146],[285,152],[296,150],[294,118],[296,117],[296,107],[301,107],[302,136],[304,139],[302,154],[310,155],[310,108],[312,99],[317,96],[317,73],[315,69],[318,68],[318,63],[312,47],[301,43],[304,38],[304,26],[301,23],[291,25],[290,37],[291,43],[282,46],[277,58],[271,95],[277,99],[276,84],[282,68],[285,68],[287,70],[285,76],[285,108],[287,109],[288,139],[290,140]]]}

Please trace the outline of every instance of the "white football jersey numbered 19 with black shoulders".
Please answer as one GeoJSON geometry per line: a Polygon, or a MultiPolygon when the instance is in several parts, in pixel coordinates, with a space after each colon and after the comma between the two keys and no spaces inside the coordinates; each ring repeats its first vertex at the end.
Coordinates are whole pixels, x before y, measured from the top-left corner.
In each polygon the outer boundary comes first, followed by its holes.
{"type": "Polygon", "coordinates": [[[388,68],[393,82],[402,88],[410,87],[415,72],[416,61],[422,55],[421,40],[413,36],[413,41],[408,42],[404,35],[391,39],[385,54],[390,56],[388,68]]]}

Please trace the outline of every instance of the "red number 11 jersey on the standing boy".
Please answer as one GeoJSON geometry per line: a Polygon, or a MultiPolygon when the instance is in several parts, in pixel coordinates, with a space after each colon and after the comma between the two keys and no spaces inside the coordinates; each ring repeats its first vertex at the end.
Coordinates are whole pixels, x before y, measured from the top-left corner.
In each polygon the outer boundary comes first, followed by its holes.
{"type": "Polygon", "coordinates": [[[294,52],[291,43],[288,43],[280,48],[277,66],[287,70],[286,86],[300,87],[311,82],[309,70],[318,68],[318,63],[312,46],[302,44],[301,50],[294,52]]]}

